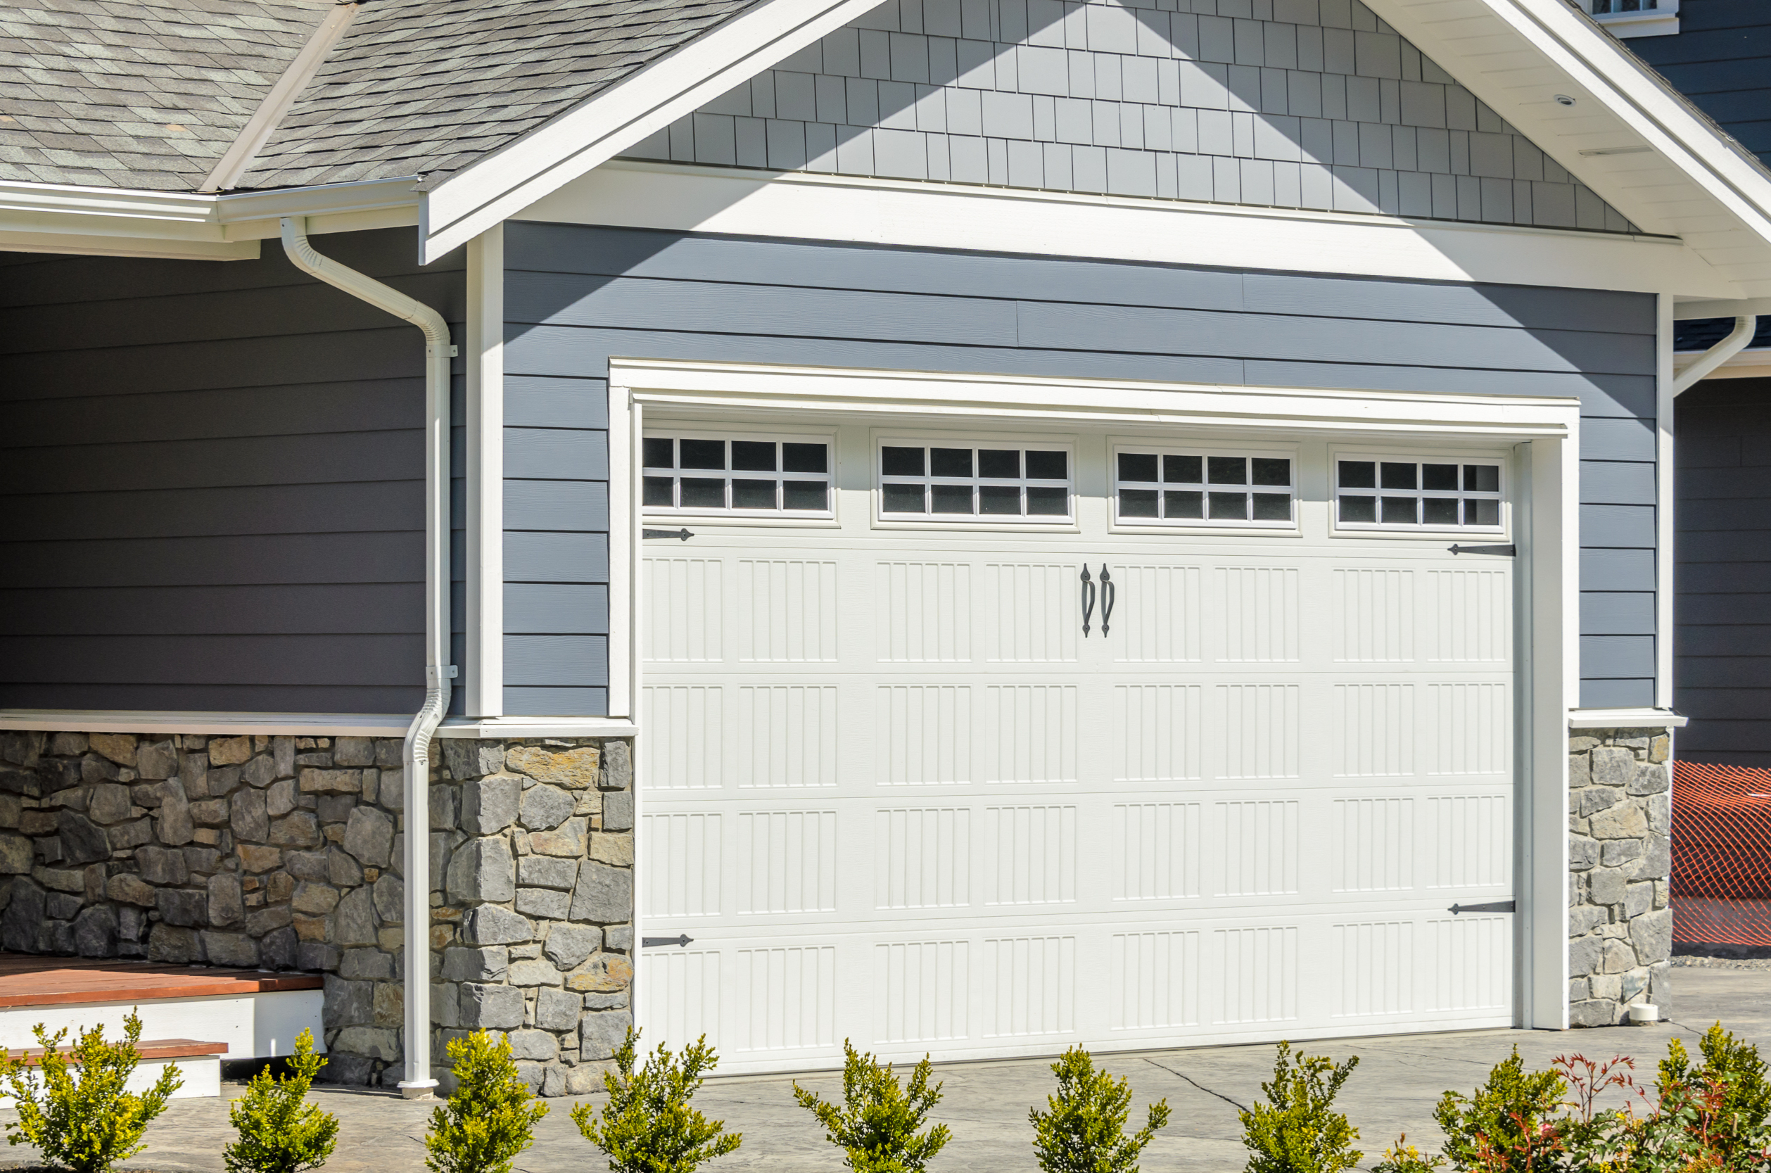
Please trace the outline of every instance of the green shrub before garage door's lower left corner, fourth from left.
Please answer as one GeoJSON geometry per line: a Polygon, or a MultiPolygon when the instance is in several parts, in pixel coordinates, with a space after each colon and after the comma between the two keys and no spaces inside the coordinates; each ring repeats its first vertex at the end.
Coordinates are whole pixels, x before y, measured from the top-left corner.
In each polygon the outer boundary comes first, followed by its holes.
{"type": "Polygon", "coordinates": [[[744,1141],[726,1132],[724,1120],[708,1120],[689,1100],[719,1056],[701,1035],[684,1047],[678,1060],[664,1044],[646,1056],[634,1074],[639,1033],[627,1029],[627,1042],[615,1053],[613,1072],[604,1072],[609,1090],[600,1120],[590,1104],[572,1109],[572,1123],[609,1157],[611,1173],[694,1173],[714,1157],[735,1152],[744,1141]]]}

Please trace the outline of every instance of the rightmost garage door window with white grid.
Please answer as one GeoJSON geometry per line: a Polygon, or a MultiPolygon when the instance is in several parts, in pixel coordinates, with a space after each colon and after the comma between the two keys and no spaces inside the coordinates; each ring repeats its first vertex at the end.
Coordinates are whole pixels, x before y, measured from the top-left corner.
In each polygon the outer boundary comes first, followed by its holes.
{"type": "Polygon", "coordinates": [[[1491,530],[1500,524],[1500,464],[1335,461],[1342,530],[1491,530]]]}

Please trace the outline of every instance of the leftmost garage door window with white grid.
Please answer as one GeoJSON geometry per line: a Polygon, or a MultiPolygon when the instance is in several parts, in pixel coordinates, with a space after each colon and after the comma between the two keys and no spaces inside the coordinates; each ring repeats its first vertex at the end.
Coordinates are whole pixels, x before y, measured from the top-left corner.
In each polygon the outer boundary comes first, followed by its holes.
{"type": "Polygon", "coordinates": [[[831,516],[831,441],[648,434],[646,512],[831,516]]]}

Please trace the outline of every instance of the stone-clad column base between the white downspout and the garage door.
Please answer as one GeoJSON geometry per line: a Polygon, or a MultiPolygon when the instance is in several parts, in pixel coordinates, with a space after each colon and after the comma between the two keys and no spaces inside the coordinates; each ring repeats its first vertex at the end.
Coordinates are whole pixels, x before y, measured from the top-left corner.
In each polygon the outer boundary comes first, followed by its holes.
{"type": "Polygon", "coordinates": [[[441,744],[460,829],[432,845],[439,1091],[448,1040],[471,1029],[508,1033],[540,1095],[600,1088],[632,1022],[632,746],[441,744]]]}

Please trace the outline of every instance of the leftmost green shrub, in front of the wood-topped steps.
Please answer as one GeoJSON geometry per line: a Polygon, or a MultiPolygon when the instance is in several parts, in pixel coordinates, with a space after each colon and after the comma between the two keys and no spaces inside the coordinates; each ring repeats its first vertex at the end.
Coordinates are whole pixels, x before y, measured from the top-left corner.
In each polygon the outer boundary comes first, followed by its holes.
{"type": "Polygon", "coordinates": [[[74,1173],[104,1173],[147,1146],[142,1134],[184,1077],[168,1063],[145,1093],[124,1091],[142,1061],[135,1049],[142,1042],[142,1019],[131,1010],[122,1022],[124,1037],[117,1042],[104,1042],[103,1026],[80,1031],[73,1054],[60,1053],[67,1028],[50,1035],[39,1022],[32,1028],[43,1047],[39,1067],[28,1067],[23,1056],[0,1058],[0,1081],[18,1109],[18,1120],[7,1123],[9,1145],[35,1145],[46,1162],[74,1173]],[[71,1067],[80,1074],[73,1076],[71,1067]]]}

